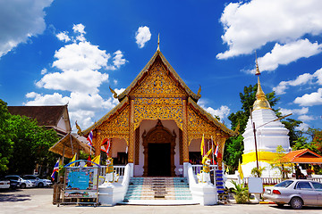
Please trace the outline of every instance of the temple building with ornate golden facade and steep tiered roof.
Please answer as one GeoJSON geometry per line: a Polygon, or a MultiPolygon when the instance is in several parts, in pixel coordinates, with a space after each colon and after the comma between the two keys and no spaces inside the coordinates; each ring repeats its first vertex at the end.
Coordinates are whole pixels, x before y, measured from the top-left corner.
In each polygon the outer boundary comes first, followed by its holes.
{"type": "MultiPolygon", "coordinates": [[[[181,176],[184,164],[200,152],[203,135],[206,142],[219,144],[223,154],[225,140],[237,134],[198,105],[201,88],[197,94],[191,91],[159,43],[131,85],[120,95],[111,91],[119,103],[81,134],[93,132],[97,153],[109,139],[114,164],[131,163],[134,177],[181,176]]],[[[222,157],[217,162],[221,167],[222,157]]]]}

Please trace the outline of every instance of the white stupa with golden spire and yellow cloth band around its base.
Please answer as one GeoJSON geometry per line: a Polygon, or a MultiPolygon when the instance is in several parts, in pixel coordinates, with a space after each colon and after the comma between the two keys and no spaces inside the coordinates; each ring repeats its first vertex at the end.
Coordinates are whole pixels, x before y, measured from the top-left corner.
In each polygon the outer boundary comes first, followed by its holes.
{"type": "Polygon", "coordinates": [[[277,169],[271,169],[270,163],[276,159],[276,148],[281,145],[284,152],[290,152],[289,130],[277,118],[267,101],[259,81],[259,69],[256,61],[256,75],[258,76],[258,90],[253,104],[250,119],[247,122],[244,137],[244,151],[242,154],[242,173],[250,177],[251,169],[265,168],[262,177],[279,177],[277,169]],[[254,130],[255,129],[255,130],[254,130]],[[254,135],[255,132],[255,135],[254,135]]]}

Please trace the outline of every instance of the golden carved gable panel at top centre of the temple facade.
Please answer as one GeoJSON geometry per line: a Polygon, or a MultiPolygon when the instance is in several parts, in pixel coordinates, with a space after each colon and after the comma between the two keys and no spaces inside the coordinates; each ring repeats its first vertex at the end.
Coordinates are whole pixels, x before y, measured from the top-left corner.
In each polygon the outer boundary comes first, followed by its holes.
{"type": "Polygon", "coordinates": [[[188,95],[170,77],[161,59],[147,71],[131,96],[134,97],[134,128],[142,119],[174,119],[182,128],[182,98],[188,95]]]}

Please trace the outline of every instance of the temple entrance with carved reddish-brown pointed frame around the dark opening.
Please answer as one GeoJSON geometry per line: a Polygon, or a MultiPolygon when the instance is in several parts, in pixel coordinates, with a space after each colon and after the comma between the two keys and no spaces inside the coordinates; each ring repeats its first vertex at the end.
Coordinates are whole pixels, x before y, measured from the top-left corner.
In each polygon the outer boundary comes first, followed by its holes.
{"type": "Polygon", "coordinates": [[[170,132],[158,119],[157,126],[143,135],[143,176],[175,176],[174,147],[175,132],[170,132]]]}

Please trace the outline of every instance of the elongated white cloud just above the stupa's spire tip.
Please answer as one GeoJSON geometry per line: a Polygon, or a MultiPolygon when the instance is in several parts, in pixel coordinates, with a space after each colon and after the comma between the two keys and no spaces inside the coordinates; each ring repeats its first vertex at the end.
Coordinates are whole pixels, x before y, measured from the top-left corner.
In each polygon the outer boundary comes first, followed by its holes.
{"type": "Polygon", "coordinates": [[[322,45],[318,45],[318,42],[312,44],[309,39],[300,39],[286,45],[276,43],[271,53],[258,58],[258,65],[261,71],[275,70],[278,65],[287,65],[302,57],[309,58],[321,51],[322,45]]]}

